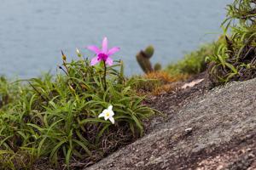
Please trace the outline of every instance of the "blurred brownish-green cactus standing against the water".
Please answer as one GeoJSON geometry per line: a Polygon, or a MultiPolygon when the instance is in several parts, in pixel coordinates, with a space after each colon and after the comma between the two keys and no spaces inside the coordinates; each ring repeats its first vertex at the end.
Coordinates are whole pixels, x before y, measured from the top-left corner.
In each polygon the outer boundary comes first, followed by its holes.
{"type": "Polygon", "coordinates": [[[160,71],[161,65],[159,63],[154,65],[154,68],[150,62],[154,54],[154,47],[148,46],[145,50],[141,50],[137,55],[137,62],[143,69],[145,73],[152,72],[152,71],[160,71]]]}

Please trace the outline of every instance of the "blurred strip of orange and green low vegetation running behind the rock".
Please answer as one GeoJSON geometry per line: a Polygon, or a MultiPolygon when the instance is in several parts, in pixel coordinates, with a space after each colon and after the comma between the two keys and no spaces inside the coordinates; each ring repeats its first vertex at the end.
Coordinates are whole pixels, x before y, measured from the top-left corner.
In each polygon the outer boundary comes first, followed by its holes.
{"type": "MultiPolygon", "coordinates": [[[[218,44],[218,42],[205,44],[198,50],[186,54],[184,59],[177,63],[167,65],[162,71],[152,68],[149,61],[150,57],[143,58],[143,55],[137,54],[138,63],[141,63],[140,65],[148,63],[148,67],[145,66],[145,68],[148,69],[143,69],[146,73],[143,76],[131,77],[131,79],[139,80],[134,84],[133,88],[135,88],[140,95],[159,95],[176,90],[179,82],[186,81],[189,77],[207,70],[206,58],[208,55],[213,54],[216,44],[218,44]]],[[[152,56],[153,52],[149,49],[151,49],[150,46],[146,48],[143,53],[152,56]]],[[[155,67],[157,67],[156,65],[155,67]]]]}

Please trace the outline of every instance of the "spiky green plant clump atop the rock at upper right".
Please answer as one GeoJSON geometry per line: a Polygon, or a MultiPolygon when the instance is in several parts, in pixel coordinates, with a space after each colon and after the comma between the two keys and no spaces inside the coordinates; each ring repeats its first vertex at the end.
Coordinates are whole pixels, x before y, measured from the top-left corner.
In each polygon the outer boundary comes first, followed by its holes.
{"type": "Polygon", "coordinates": [[[256,77],[255,6],[254,0],[235,0],[228,5],[224,41],[207,58],[213,85],[256,77]],[[231,36],[226,34],[228,30],[231,36]]]}

